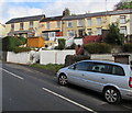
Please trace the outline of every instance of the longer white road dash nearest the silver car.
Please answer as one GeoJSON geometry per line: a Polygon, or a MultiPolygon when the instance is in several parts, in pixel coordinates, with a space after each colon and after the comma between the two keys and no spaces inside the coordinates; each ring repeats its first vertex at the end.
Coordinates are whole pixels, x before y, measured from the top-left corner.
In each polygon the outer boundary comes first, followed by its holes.
{"type": "Polygon", "coordinates": [[[89,111],[89,112],[97,113],[96,111],[94,111],[94,110],[91,110],[91,109],[89,109],[89,108],[87,108],[87,106],[85,106],[85,105],[81,105],[81,104],[79,104],[79,103],[77,103],[77,102],[75,102],[75,101],[73,101],[73,100],[70,100],[70,99],[68,99],[68,98],[65,98],[65,97],[63,97],[63,95],[61,95],[61,94],[58,94],[58,93],[56,93],[56,92],[53,92],[53,91],[51,91],[51,90],[48,90],[48,89],[46,89],[46,88],[42,88],[42,89],[45,90],[45,91],[47,91],[47,92],[50,92],[50,93],[52,93],[52,94],[54,94],[54,95],[56,95],[56,97],[59,97],[59,98],[62,98],[62,99],[64,99],[64,100],[66,100],[66,101],[68,101],[68,102],[70,102],[70,103],[73,103],[73,104],[75,104],[75,105],[77,105],[77,106],[80,106],[80,108],[82,108],[82,109],[85,109],[85,110],[87,110],[87,111],[89,111]]]}

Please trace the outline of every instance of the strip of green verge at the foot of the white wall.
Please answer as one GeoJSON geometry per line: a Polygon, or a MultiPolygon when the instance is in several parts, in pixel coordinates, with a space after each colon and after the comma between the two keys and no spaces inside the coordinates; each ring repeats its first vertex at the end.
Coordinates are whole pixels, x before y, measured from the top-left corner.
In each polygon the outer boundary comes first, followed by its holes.
{"type": "Polygon", "coordinates": [[[34,64],[34,65],[31,65],[31,67],[42,68],[42,69],[45,69],[45,70],[51,70],[53,72],[57,72],[61,68],[64,67],[64,65],[57,65],[57,64],[40,65],[40,64],[34,64]]]}

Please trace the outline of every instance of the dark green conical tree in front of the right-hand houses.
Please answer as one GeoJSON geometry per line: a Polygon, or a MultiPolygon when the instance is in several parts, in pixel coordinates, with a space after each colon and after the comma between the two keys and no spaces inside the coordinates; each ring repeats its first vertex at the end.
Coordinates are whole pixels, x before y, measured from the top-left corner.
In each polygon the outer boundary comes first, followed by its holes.
{"type": "Polygon", "coordinates": [[[120,34],[118,22],[109,25],[109,33],[107,34],[105,42],[108,44],[123,45],[124,34],[120,34]]]}

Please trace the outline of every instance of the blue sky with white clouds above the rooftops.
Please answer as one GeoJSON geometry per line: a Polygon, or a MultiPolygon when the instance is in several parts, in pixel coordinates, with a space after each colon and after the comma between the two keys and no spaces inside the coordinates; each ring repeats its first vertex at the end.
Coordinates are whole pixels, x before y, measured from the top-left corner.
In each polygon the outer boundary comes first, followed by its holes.
{"type": "Polygon", "coordinates": [[[68,8],[73,14],[113,10],[120,0],[0,0],[0,23],[13,18],[45,14],[57,16],[68,8]],[[106,2],[107,1],[107,2],[106,2]]]}

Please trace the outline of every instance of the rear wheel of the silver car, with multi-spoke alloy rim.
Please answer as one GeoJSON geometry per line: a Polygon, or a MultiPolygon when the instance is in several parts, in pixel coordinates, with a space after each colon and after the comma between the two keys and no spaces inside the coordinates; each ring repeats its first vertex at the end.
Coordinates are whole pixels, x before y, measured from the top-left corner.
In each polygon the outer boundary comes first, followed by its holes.
{"type": "Polygon", "coordinates": [[[116,88],[107,88],[103,91],[103,97],[108,103],[116,104],[116,103],[120,103],[121,101],[120,92],[116,88]]]}

